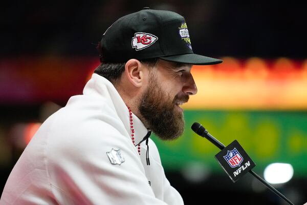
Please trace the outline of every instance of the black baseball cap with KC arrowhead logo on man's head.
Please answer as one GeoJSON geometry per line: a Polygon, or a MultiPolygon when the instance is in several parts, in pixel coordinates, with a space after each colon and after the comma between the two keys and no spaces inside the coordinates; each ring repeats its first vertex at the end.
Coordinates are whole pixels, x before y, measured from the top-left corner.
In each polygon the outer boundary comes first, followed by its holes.
{"type": "Polygon", "coordinates": [[[221,59],[193,53],[183,16],[148,7],[116,20],[104,32],[98,48],[101,62],[161,58],[193,65],[222,63],[221,59]]]}

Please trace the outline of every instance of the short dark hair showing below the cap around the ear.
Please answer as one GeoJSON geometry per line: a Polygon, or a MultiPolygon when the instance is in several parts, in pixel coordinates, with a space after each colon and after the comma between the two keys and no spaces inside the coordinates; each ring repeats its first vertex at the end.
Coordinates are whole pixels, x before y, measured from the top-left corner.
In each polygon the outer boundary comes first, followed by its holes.
{"type": "MultiPolygon", "coordinates": [[[[140,60],[142,64],[147,64],[154,67],[157,64],[158,58],[140,60]]],[[[123,74],[126,63],[105,63],[102,62],[94,71],[94,73],[105,77],[111,83],[115,83],[123,74]]]]}

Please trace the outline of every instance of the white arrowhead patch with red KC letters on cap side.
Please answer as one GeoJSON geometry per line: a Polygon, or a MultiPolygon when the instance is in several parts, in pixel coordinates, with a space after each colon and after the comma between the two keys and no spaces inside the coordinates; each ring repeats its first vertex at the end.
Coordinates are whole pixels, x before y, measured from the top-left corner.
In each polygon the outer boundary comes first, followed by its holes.
{"type": "Polygon", "coordinates": [[[136,51],[142,50],[151,46],[153,43],[158,40],[158,37],[150,33],[135,33],[135,36],[132,38],[131,46],[135,48],[136,51]]]}

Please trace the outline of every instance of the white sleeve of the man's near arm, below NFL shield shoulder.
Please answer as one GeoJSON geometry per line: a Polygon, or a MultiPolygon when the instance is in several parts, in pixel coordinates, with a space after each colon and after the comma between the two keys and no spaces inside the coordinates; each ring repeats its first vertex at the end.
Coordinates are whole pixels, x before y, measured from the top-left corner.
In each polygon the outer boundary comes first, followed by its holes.
{"type": "MultiPolygon", "coordinates": [[[[97,120],[98,121],[98,120],[97,120]]],[[[49,133],[47,170],[60,204],[166,204],[148,185],[131,141],[101,122],[49,133]],[[63,135],[65,133],[65,135],[63,135]],[[113,165],[106,152],[121,150],[125,161],[113,165]]]]}

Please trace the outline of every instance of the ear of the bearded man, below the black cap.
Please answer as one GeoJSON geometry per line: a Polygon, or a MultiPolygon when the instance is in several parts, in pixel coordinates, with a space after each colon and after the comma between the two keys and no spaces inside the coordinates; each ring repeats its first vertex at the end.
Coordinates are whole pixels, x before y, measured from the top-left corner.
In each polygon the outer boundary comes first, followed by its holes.
{"type": "Polygon", "coordinates": [[[125,65],[125,75],[136,87],[141,87],[144,84],[147,68],[137,59],[129,59],[125,65]]]}

